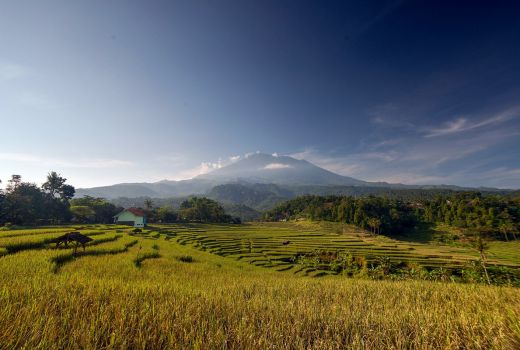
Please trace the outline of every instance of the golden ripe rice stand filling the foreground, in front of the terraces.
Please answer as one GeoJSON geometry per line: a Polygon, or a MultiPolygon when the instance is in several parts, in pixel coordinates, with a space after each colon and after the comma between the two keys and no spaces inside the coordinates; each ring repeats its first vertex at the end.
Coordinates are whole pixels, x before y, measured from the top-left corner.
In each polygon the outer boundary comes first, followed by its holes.
{"type": "Polygon", "coordinates": [[[137,239],[58,273],[51,260],[63,251],[0,257],[0,348],[520,348],[518,289],[297,277],[163,236],[137,239]],[[178,259],[186,255],[194,261],[178,259]]]}

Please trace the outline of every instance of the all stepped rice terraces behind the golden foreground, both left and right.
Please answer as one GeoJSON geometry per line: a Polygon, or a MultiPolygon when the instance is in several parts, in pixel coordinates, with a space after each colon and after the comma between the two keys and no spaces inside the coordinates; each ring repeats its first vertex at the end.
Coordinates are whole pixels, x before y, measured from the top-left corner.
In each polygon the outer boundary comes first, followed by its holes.
{"type": "MultiPolygon", "coordinates": [[[[93,241],[88,251],[78,256],[118,254],[138,241],[163,237],[167,241],[190,245],[196,249],[255,266],[296,275],[324,276],[334,272],[320,267],[302,267],[297,257],[316,251],[347,252],[363,257],[368,263],[388,257],[392,263],[417,264],[425,268],[460,268],[476,260],[478,253],[470,247],[433,245],[372,236],[353,226],[335,223],[253,223],[244,225],[169,224],[154,225],[142,234],[132,228],[115,225],[69,226],[0,232],[0,257],[28,250],[45,250],[51,241],[71,230],[80,230],[93,241]]],[[[142,249],[142,244],[141,244],[142,249]]],[[[71,249],[51,250],[51,260],[58,270],[72,260],[71,249]]],[[[153,253],[149,247],[141,252],[153,253]]],[[[488,253],[489,264],[520,267],[518,242],[493,242],[488,253]]]]}

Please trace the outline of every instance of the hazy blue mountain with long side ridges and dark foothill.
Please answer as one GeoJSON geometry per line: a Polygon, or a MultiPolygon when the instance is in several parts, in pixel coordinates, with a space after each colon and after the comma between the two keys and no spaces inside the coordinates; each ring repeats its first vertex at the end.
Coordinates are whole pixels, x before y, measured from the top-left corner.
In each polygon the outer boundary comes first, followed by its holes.
{"type": "Polygon", "coordinates": [[[163,180],[154,183],[124,183],[80,188],[76,190],[76,197],[89,195],[107,199],[120,197],[166,199],[196,194],[207,195],[227,205],[238,204],[255,210],[264,210],[302,194],[353,196],[374,194],[399,198],[418,195],[415,190],[426,191],[420,193],[421,196],[447,190],[497,191],[447,185],[419,186],[366,182],[335,174],[306,160],[258,153],[191,180],[163,180]]]}

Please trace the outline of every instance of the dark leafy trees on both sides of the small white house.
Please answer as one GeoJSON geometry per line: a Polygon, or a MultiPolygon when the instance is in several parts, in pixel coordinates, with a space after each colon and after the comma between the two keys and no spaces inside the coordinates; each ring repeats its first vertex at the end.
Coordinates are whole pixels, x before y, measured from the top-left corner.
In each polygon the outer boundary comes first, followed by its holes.
{"type": "MultiPolygon", "coordinates": [[[[58,225],[64,223],[112,223],[124,208],[104,198],[73,198],[75,189],[67,179],[52,171],[37,186],[12,175],[5,190],[0,189],[0,226],[58,225]]],[[[1,181],[0,181],[1,182],[1,181]]],[[[216,222],[239,223],[239,218],[226,214],[224,208],[208,198],[192,197],[180,203],[178,210],[163,205],[154,208],[145,200],[148,222],[216,222]]]]}

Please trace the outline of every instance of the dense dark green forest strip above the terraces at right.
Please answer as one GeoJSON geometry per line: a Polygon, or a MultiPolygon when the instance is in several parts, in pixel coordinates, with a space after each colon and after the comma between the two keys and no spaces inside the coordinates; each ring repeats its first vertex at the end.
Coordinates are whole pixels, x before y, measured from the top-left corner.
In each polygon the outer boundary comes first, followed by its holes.
{"type": "Polygon", "coordinates": [[[517,238],[520,228],[520,197],[457,192],[405,202],[374,196],[308,195],[284,202],[264,214],[268,221],[300,217],[354,224],[386,235],[424,223],[443,222],[482,236],[509,240],[517,238]]]}

